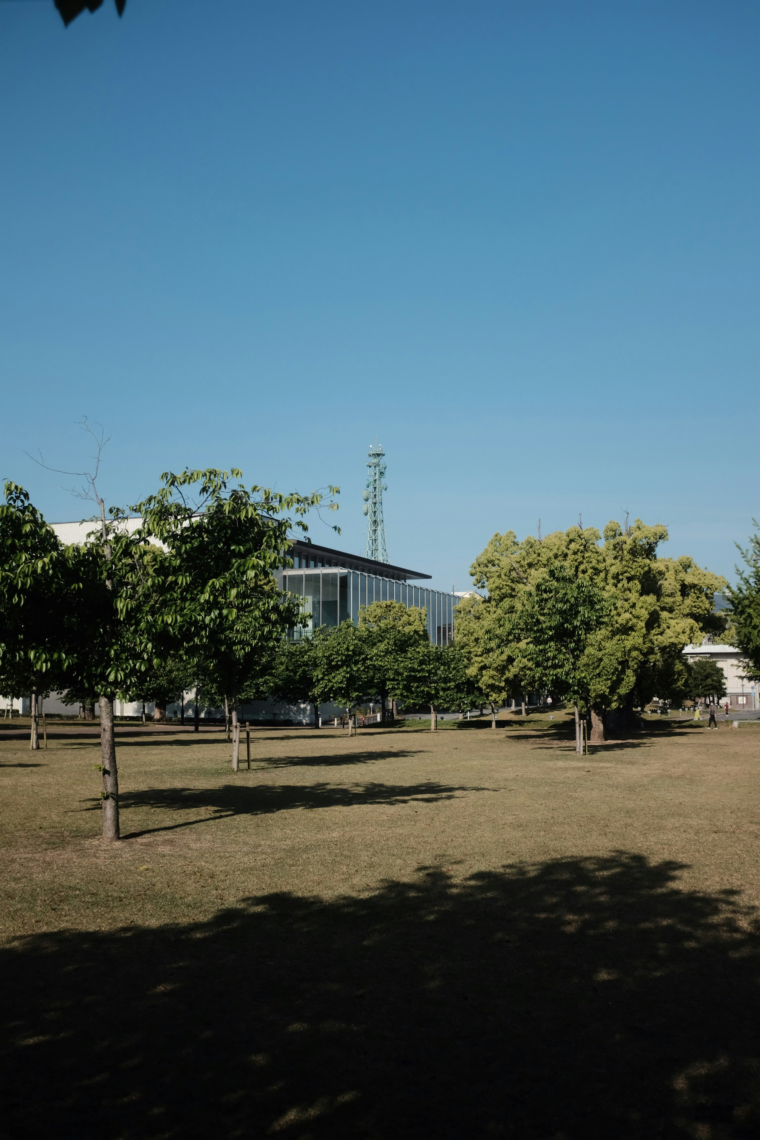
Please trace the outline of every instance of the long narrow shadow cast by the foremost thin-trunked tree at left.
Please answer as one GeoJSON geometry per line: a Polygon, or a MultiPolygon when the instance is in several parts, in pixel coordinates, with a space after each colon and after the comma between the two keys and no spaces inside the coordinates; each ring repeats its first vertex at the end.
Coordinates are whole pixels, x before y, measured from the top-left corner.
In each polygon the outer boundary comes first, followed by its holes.
{"type": "MultiPolygon", "coordinates": [[[[198,812],[201,819],[182,820],[160,828],[125,832],[124,839],[160,831],[175,831],[178,828],[209,823],[212,820],[235,815],[271,815],[275,812],[295,809],[312,811],[325,807],[359,807],[378,804],[435,804],[443,799],[455,799],[466,791],[492,791],[490,788],[469,788],[424,781],[417,784],[350,784],[343,788],[332,783],[299,784],[224,784],[221,788],[152,788],[124,792],[119,797],[120,807],[160,808],[169,812],[198,812]]],[[[98,811],[100,800],[88,801],[87,811],[98,811]]]]}

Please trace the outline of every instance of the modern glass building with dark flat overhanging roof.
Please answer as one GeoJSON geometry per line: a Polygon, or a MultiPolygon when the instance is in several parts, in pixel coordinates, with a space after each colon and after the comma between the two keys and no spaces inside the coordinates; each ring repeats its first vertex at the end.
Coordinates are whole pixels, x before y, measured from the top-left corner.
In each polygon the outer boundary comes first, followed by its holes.
{"type": "Polygon", "coordinates": [[[280,570],[278,580],[283,589],[303,598],[303,613],[311,614],[305,628],[291,632],[294,640],[308,636],[317,626],[336,626],[348,618],[356,625],[360,606],[373,602],[425,606],[431,642],[447,645],[452,640],[459,598],[408,580],[430,580],[430,575],[302,542],[293,544],[292,557],[293,568],[280,570]]]}

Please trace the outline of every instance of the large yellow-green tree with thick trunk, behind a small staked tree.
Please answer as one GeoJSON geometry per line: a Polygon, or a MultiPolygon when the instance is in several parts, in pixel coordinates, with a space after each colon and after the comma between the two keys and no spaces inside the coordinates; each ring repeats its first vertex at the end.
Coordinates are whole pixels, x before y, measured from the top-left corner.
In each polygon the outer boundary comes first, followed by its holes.
{"type": "MultiPolygon", "coordinates": [[[[525,683],[523,662],[530,646],[521,640],[523,614],[532,612],[531,594],[544,578],[562,571],[567,580],[594,585],[610,602],[603,626],[589,635],[585,659],[583,708],[591,739],[604,740],[611,714],[630,718],[637,700],[645,702],[657,689],[665,690],[684,646],[725,626],[714,613],[713,594],[726,585],[689,557],[659,559],[657,546],[667,537],[664,527],[639,519],[632,526],[610,522],[603,544],[593,527],[571,527],[542,539],[529,536],[522,543],[514,531],[495,535],[471,573],[476,586],[488,589],[496,611],[491,640],[502,656],[505,687],[514,671],[525,683]]],[[[488,648],[483,660],[489,660],[488,648]]]]}

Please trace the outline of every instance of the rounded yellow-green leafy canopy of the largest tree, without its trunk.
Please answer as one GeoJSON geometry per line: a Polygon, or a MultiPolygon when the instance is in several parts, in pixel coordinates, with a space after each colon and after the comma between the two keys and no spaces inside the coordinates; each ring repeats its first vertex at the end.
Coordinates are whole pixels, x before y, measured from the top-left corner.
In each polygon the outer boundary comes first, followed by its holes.
{"type": "MultiPolygon", "coordinates": [[[[523,542],[514,531],[495,535],[471,569],[488,597],[466,601],[456,618],[457,642],[471,675],[492,699],[512,695],[515,686],[550,689],[551,677],[566,676],[538,652],[542,621],[554,619],[547,614],[539,620],[537,605],[539,598],[556,604],[570,621],[567,592],[574,581],[580,612],[586,604],[580,584],[604,598],[597,608],[598,626],[585,634],[582,666],[571,685],[578,699],[604,711],[635,699],[646,702],[667,690],[684,646],[725,626],[714,613],[713,595],[726,586],[724,578],[690,557],[657,557],[667,538],[665,527],[640,519],[632,526],[610,522],[604,535],[593,527],[570,527],[523,542]],[[554,585],[545,596],[546,581],[554,585]]],[[[571,626],[564,628],[570,638],[571,626]]]]}

